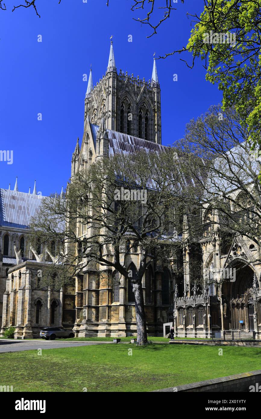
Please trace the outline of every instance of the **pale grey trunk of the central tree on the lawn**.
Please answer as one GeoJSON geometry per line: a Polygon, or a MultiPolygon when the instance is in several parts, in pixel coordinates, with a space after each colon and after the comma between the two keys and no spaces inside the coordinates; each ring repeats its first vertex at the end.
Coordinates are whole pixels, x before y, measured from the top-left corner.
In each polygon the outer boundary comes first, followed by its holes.
{"type": "Polygon", "coordinates": [[[136,323],[137,323],[137,345],[147,344],[147,329],[145,308],[143,300],[142,284],[133,284],[133,292],[135,295],[135,310],[136,310],[136,323]]]}

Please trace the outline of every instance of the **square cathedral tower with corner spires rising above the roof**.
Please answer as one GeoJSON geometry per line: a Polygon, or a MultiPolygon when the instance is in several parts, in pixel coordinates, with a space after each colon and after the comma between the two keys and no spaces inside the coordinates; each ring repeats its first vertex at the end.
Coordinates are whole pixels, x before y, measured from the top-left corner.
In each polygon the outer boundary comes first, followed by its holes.
{"type": "Polygon", "coordinates": [[[161,144],[160,85],[155,58],[151,80],[116,69],[111,41],[106,74],[93,87],[92,70],[85,95],[85,119],[106,128],[161,144]]]}

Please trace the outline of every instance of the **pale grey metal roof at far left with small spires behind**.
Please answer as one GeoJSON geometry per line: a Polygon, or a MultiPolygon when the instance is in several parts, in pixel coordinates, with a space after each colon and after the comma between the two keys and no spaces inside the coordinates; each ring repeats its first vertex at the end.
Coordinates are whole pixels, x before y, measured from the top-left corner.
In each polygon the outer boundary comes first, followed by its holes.
{"type": "Polygon", "coordinates": [[[29,228],[31,217],[39,210],[41,195],[0,189],[0,226],[29,228]]]}

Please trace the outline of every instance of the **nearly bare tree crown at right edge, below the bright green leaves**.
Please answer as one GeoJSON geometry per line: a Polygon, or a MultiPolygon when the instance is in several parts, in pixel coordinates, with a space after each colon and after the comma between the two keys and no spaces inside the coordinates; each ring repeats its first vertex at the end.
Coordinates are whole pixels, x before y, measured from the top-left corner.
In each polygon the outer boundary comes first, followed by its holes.
{"type": "MultiPolygon", "coordinates": [[[[201,209],[203,229],[218,230],[224,246],[239,237],[248,247],[260,244],[261,153],[258,147],[251,150],[249,135],[235,109],[212,106],[187,124],[179,143],[191,177],[202,191],[196,200],[191,196],[189,206],[201,209]],[[202,179],[202,171],[207,180],[202,179]]],[[[258,254],[256,261],[260,261],[258,254]]]]}

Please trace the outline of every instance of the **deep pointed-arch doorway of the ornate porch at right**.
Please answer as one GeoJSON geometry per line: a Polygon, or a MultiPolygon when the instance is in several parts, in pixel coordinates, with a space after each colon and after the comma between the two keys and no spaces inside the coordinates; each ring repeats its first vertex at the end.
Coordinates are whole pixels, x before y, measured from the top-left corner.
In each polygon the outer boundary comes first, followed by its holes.
{"type": "MultiPolygon", "coordinates": [[[[223,328],[224,330],[254,331],[254,272],[243,261],[230,265],[230,277],[222,285],[223,328]],[[235,280],[234,280],[235,279],[235,280]]],[[[223,270],[223,276],[225,270],[223,270]]]]}

